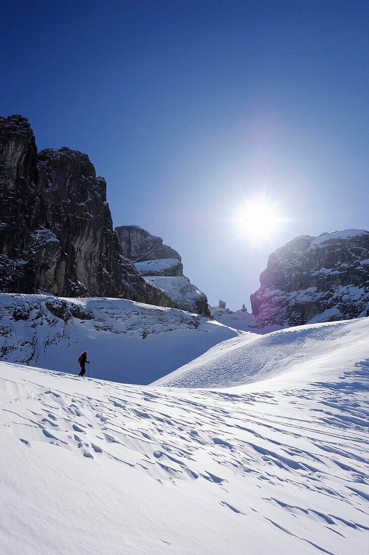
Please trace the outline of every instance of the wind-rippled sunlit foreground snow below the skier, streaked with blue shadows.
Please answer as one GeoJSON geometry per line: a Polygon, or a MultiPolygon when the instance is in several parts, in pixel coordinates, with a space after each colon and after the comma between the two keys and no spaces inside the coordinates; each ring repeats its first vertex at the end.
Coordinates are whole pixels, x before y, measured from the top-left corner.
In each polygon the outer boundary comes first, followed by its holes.
{"type": "Polygon", "coordinates": [[[365,553],[368,367],[243,392],[1,363],[1,544],[9,555],[365,553]]]}

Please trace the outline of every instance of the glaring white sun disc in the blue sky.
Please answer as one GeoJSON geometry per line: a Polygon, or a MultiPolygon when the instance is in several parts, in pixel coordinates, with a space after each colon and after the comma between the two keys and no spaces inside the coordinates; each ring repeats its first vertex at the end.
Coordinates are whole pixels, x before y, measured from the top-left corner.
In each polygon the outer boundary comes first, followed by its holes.
{"type": "Polygon", "coordinates": [[[271,240],[281,230],[287,218],[282,216],[276,204],[260,198],[244,201],[235,210],[232,221],[240,236],[247,236],[256,243],[271,240]]]}

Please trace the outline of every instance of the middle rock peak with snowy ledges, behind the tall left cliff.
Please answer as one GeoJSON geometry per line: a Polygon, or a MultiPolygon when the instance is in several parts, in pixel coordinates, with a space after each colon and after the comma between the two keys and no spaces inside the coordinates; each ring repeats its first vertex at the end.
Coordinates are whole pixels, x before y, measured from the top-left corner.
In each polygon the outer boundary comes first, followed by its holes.
{"type": "Polygon", "coordinates": [[[148,283],[166,291],[180,309],[211,317],[206,295],[183,275],[177,251],[137,225],[122,225],[115,231],[125,256],[148,283]]]}

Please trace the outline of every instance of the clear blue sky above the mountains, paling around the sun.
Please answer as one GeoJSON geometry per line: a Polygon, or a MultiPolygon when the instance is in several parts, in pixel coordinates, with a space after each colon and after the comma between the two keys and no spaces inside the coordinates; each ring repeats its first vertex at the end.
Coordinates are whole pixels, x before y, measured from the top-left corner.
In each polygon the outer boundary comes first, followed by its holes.
{"type": "Polygon", "coordinates": [[[39,149],[87,152],[115,225],[179,251],[211,303],[259,287],[296,235],[368,222],[369,3],[8,2],[0,114],[39,149]],[[230,216],[264,195],[290,219],[269,240],[230,216]]]}

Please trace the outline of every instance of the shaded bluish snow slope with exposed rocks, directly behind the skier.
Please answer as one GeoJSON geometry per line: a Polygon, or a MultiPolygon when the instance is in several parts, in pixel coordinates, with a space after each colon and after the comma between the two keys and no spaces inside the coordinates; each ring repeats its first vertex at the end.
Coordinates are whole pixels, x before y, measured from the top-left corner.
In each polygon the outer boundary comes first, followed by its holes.
{"type": "Polygon", "coordinates": [[[149,384],[237,331],[198,314],[124,299],[0,294],[0,359],[149,384]],[[74,315],[73,315],[74,314],[74,315]]]}

